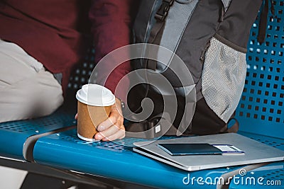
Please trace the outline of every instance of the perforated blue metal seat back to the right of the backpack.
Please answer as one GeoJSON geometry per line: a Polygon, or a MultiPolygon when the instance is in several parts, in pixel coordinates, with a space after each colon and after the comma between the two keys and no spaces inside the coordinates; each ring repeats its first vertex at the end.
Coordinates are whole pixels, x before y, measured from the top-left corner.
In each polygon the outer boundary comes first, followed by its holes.
{"type": "Polygon", "coordinates": [[[266,40],[257,41],[260,14],[251,28],[246,85],[236,110],[240,130],[284,138],[284,1],[273,1],[268,11],[266,40]]]}

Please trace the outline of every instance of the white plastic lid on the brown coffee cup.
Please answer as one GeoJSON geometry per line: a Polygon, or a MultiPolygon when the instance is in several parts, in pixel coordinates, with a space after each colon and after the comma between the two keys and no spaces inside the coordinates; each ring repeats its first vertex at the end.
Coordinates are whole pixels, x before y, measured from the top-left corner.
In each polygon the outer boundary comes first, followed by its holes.
{"type": "Polygon", "coordinates": [[[76,98],[81,103],[95,106],[109,106],[115,103],[115,96],[108,88],[97,84],[86,84],[77,91],[76,98]]]}

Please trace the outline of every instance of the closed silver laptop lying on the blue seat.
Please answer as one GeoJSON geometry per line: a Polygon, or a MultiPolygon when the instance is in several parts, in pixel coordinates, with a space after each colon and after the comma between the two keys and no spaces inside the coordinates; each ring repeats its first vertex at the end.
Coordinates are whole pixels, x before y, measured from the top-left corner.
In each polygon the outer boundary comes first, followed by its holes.
{"type": "Polygon", "coordinates": [[[177,139],[156,140],[152,142],[135,142],[136,151],[165,164],[181,168],[185,171],[198,171],[207,168],[258,164],[271,161],[283,161],[284,151],[269,147],[266,144],[249,139],[240,134],[212,134],[198,137],[182,137],[177,139]],[[171,156],[157,144],[163,143],[208,143],[231,144],[243,150],[244,155],[187,155],[171,156]]]}

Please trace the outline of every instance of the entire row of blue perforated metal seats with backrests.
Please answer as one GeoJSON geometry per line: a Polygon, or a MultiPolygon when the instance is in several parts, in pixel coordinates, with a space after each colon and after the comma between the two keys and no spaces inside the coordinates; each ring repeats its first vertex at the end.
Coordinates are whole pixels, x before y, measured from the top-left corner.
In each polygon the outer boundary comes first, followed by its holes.
{"type": "MultiPolygon", "coordinates": [[[[259,16],[251,28],[246,85],[236,110],[236,119],[240,122],[239,134],[284,150],[284,2],[273,0],[273,4],[275,16],[271,13],[268,15],[266,41],[262,45],[256,40],[259,16]]],[[[75,101],[74,92],[87,83],[93,68],[94,50],[90,50],[89,57],[86,57],[70,78],[71,101],[75,101]]],[[[155,188],[217,188],[217,183],[192,185],[182,183],[182,180],[189,173],[190,178],[214,180],[234,172],[235,177],[242,178],[243,181],[256,181],[263,177],[265,181],[280,181],[281,185],[275,188],[284,188],[283,161],[247,171],[246,174],[241,172],[245,170],[242,166],[187,172],[136,154],[131,147],[125,145],[132,144],[136,139],[84,142],[77,137],[76,129],[69,127],[71,125],[76,125],[74,113],[65,113],[62,110],[45,118],[1,123],[0,156],[24,160],[27,154],[23,153],[23,149],[28,138],[58,131],[40,137],[35,142],[32,151],[35,163],[155,188]],[[58,129],[62,127],[68,127],[69,130],[60,132],[58,129]]],[[[271,185],[261,185],[263,187],[271,188],[271,185]]],[[[260,188],[260,185],[231,181],[229,188],[260,188]]]]}

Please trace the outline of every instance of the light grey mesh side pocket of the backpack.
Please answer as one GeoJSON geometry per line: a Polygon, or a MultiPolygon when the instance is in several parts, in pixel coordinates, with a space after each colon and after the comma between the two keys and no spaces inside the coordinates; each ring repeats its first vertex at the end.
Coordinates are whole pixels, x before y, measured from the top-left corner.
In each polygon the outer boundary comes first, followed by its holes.
{"type": "Polygon", "coordinates": [[[228,122],[236,110],[245,78],[246,54],[213,37],[204,59],[202,95],[224,122],[228,122]]]}

